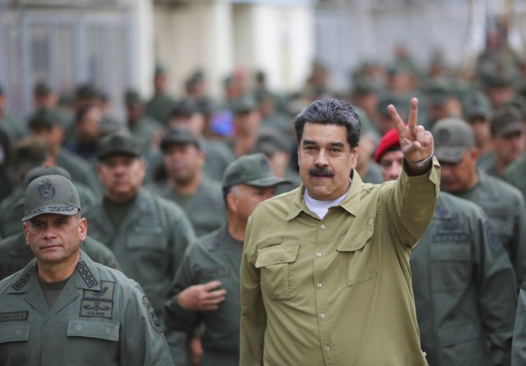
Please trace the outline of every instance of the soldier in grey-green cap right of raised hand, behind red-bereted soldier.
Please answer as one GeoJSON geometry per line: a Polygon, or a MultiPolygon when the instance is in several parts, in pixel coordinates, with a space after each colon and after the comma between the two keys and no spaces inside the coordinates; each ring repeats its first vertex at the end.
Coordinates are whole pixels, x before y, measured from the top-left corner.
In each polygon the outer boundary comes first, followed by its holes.
{"type": "Polygon", "coordinates": [[[478,149],[469,125],[446,118],[433,126],[435,154],[445,191],[476,203],[490,217],[515,269],[516,282],[526,275],[526,204],[520,191],[477,168],[478,149]]]}

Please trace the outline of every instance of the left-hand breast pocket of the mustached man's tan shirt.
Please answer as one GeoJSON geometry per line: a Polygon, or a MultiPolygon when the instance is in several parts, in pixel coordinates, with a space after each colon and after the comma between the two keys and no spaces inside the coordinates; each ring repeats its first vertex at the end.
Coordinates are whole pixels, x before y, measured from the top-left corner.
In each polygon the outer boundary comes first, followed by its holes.
{"type": "Polygon", "coordinates": [[[273,245],[257,252],[255,267],[260,269],[262,292],[272,300],[290,300],[296,295],[291,266],[299,244],[273,245]]]}

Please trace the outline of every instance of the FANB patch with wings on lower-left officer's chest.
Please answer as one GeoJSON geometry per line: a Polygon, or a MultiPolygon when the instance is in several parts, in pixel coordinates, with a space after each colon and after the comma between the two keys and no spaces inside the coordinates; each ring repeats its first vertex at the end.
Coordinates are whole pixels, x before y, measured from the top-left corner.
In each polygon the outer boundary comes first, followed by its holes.
{"type": "Polygon", "coordinates": [[[100,290],[84,290],[79,316],[112,319],[114,289],[114,282],[100,281],[100,290]]]}

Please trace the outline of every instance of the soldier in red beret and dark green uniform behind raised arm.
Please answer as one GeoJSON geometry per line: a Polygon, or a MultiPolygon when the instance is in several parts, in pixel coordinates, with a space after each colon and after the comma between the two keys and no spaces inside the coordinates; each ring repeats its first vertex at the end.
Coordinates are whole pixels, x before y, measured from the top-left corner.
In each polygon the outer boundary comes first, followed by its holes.
{"type": "MultiPolygon", "coordinates": [[[[398,131],[375,155],[384,179],[398,179],[398,131]]],[[[515,272],[484,211],[440,192],[435,215],[411,254],[422,349],[433,366],[509,365],[515,272]]]]}

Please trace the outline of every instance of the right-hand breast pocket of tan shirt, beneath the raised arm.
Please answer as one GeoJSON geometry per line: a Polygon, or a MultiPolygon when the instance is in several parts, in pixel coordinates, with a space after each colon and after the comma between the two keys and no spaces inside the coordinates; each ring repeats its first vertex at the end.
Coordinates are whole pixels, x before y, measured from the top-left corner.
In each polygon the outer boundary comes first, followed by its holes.
{"type": "Polygon", "coordinates": [[[372,243],[374,224],[349,229],[338,245],[338,264],[342,287],[351,287],[376,278],[379,273],[378,248],[372,243]]]}

